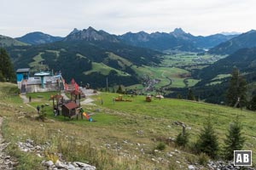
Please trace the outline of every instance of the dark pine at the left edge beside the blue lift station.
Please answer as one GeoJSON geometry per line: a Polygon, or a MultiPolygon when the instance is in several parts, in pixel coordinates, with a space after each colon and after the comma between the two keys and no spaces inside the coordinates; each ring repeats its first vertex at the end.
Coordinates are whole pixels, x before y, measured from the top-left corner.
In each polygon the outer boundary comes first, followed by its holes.
{"type": "Polygon", "coordinates": [[[15,81],[15,71],[5,49],[0,48],[0,81],[15,81]]]}

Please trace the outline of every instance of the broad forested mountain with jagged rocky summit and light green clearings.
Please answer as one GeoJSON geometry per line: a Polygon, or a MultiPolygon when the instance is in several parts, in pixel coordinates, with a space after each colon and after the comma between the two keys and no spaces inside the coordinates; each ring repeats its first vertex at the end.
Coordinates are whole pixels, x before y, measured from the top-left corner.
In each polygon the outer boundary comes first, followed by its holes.
{"type": "Polygon", "coordinates": [[[61,71],[67,80],[90,82],[93,87],[122,83],[139,83],[131,68],[141,65],[159,65],[160,52],[120,42],[117,36],[92,27],[74,30],[61,41],[7,48],[15,69],[30,67],[31,71],[61,71]]]}

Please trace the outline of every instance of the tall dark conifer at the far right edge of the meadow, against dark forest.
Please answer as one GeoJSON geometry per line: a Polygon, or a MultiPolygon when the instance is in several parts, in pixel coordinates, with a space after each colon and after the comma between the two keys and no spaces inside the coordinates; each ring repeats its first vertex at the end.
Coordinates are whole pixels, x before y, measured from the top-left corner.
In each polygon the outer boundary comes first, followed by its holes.
{"type": "Polygon", "coordinates": [[[240,99],[238,107],[245,106],[247,104],[247,82],[239,74],[238,69],[234,69],[232,77],[230,79],[230,86],[227,90],[226,99],[227,104],[230,106],[236,105],[237,99],[240,99]]]}

